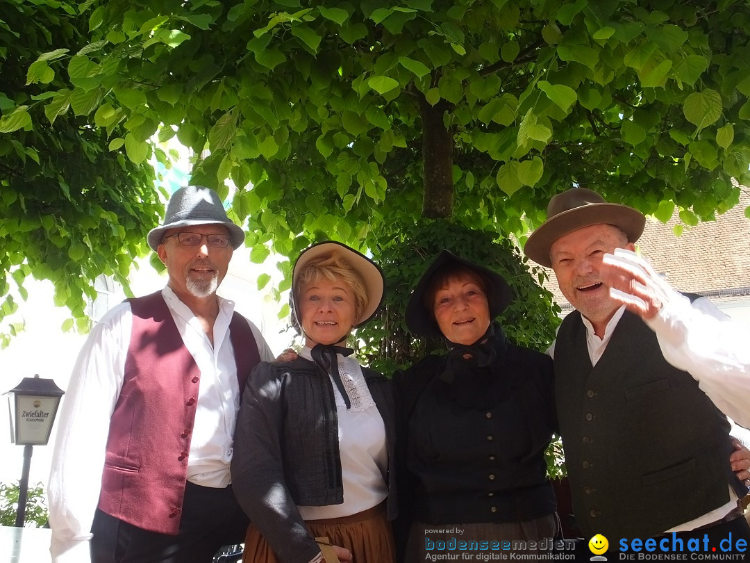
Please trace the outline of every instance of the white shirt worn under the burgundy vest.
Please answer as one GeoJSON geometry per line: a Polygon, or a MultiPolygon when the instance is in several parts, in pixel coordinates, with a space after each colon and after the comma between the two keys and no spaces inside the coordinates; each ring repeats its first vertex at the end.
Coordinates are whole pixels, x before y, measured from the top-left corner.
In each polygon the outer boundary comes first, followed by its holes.
{"type": "MultiPolygon", "coordinates": [[[[229,340],[234,303],[218,298],[211,345],[199,320],[169,287],[163,289],[162,296],[201,373],[187,480],[225,487],[230,481],[229,462],[242,393],[229,340]]],[[[101,490],[110,418],[124,380],[132,319],[130,303],[120,303],[104,315],[80,351],[62,401],[47,490],[50,552],[56,563],[90,561],[91,526],[101,490]]],[[[249,324],[260,360],[273,360],[260,331],[249,324]]]]}

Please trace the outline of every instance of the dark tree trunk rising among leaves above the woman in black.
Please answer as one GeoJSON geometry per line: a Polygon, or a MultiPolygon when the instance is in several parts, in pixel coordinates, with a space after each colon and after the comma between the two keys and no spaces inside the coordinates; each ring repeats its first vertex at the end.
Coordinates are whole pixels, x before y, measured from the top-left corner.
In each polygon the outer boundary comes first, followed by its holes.
{"type": "Polygon", "coordinates": [[[419,95],[425,177],[422,215],[433,219],[453,215],[453,135],[443,122],[448,107],[444,100],[431,106],[423,95],[419,95]]]}

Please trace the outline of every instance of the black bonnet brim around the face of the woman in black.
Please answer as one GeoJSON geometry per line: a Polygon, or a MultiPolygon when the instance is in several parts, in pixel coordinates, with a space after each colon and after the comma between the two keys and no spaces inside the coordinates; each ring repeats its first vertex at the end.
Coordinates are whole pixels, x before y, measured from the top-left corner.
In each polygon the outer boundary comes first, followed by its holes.
{"type": "Polygon", "coordinates": [[[452,252],[443,250],[437,255],[433,263],[430,264],[427,271],[419,278],[417,285],[407,303],[407,312],[405,315],[407,327],[411,333],[417,336],[443,336],[440,327],[435,321],[433,312],[428,311],[425,307],[425,292],[428,290],[432,276],[438,269],[449,263],[459,263],[464,266],[481,272],[489,281],[490,287],[487,288],[487,304],[490,309],[490,319],[496,318],[511,303],[511,288],[502,275],[487,269],[484,266],[478,266],[469,260],[464,260],[452,252]]]}

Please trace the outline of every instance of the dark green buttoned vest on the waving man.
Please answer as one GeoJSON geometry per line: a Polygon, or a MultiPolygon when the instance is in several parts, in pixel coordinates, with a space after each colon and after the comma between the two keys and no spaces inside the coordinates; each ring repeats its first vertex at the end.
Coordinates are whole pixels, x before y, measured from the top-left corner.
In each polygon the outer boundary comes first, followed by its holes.
{"type": "Polygon", "coordinates": [[[562,321],[555,396],[573,508],[591,537],[651,537],[726,504],[729,423],[625,312],[592,368],[580,313],[562,321]]]}

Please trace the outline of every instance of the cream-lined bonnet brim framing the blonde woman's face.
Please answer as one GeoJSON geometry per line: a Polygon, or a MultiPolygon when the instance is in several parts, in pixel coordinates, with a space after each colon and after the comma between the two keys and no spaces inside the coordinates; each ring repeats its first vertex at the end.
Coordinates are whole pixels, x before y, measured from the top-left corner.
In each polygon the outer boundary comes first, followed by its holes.
{"type": "Polygon", "coordinates": [[[349,263],[359,274],[365,284],[365,293],[368,296],[368,303],[353,325],[353,328],[361,327],[375,316],[377,310],[380,309],[380,306],[383,304],[383,299],[386,297],[386,276],[383,274],[383,270],[380,269],[380,266],[378,266],[377,263],[374,263],[370,258],[366,257],[365,254],[361,254],[354,250],[354,248],[350,248],[341,242],[329,240],[326,242],[318,242],[302,251],[302,254],[299,255],[297,261],[294,263],[294,268],[292,269],[293,291],[296,289],[297,275],[305,269],[305,266],[307,266],[311,260],[332,253],[342,254],[347,260],[347,263],[349,263]]]}

